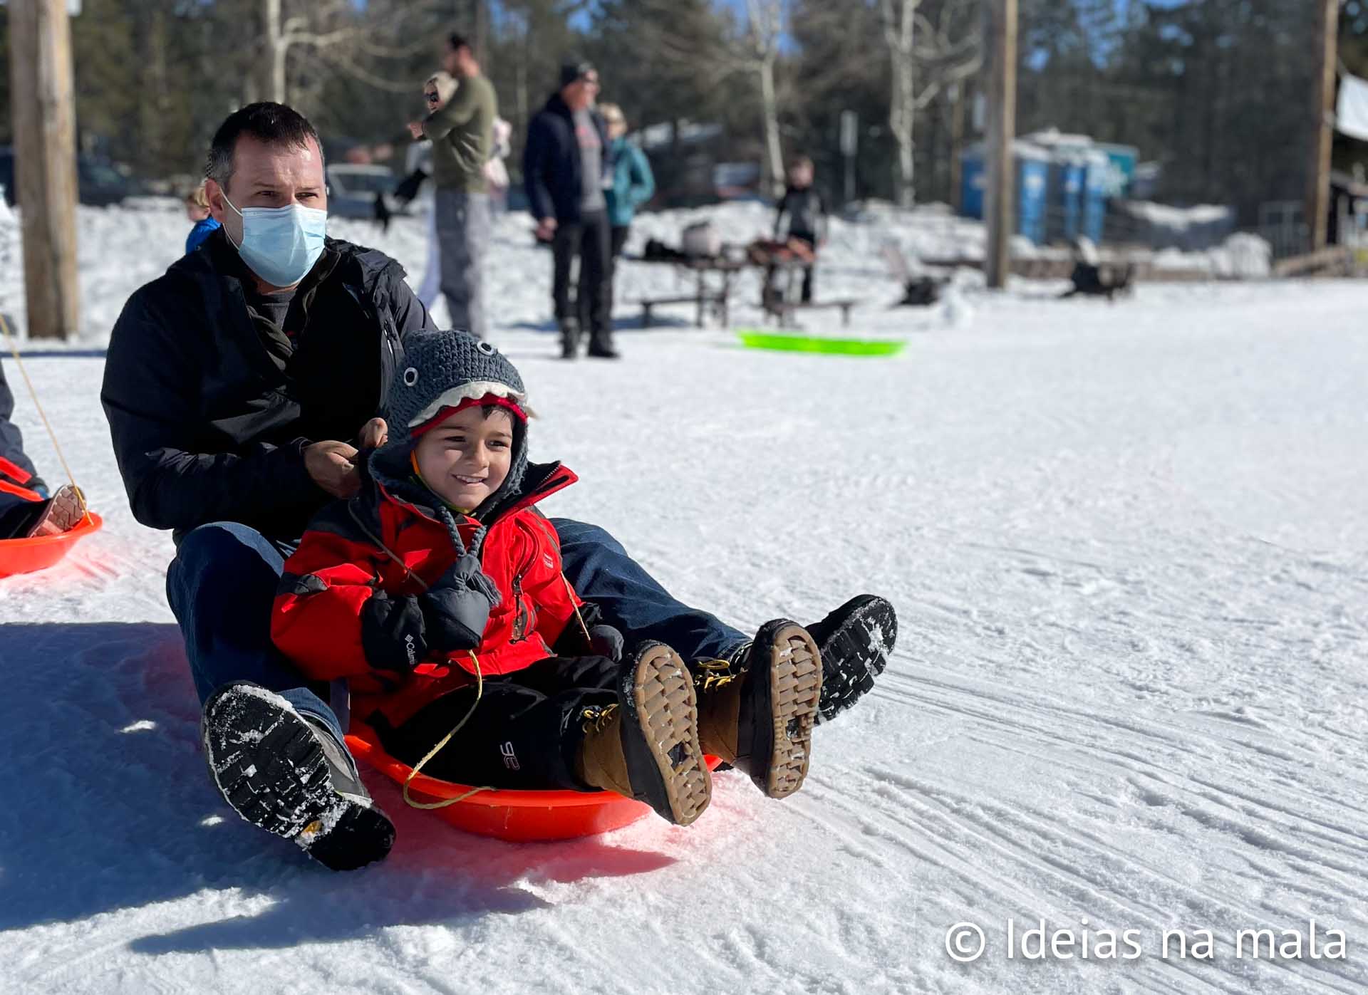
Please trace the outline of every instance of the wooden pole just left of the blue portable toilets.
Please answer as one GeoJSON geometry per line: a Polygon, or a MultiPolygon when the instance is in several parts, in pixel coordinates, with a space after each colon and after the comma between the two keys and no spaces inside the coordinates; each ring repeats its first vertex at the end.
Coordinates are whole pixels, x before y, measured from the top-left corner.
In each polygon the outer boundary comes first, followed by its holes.
{"type": "MultiPolygon", "coordinates": [[[[1334,3],[1335,0],[1327,0],[1334,3]]],[[[989,46],[988,78],[988,190],[984,219],[988,221],[988,286],[1001,290],[1011,272],[1012,236],[1012,142],[1016,138],[1016,0],[985,0],[989,46]]]]}

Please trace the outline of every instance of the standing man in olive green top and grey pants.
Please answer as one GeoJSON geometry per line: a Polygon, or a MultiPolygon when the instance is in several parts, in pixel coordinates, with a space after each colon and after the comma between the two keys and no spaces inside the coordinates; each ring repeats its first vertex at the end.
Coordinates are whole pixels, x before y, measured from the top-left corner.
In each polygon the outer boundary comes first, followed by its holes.
{"type": "MultiPolygon", "coordinates": [[[[409,124],[415,138],[432,139],[432,182],[436,186],[436,238],[442,294],[453,328],[487,338],[482,264],[490,241],[490,194],[484,164],[494,148],[498,98],[480,72],[469,42],[447,38],[443,68],[460,82],[445,104],[409,124]]],[[[427,87],[431,94],[432,87],[427,87]]]]}

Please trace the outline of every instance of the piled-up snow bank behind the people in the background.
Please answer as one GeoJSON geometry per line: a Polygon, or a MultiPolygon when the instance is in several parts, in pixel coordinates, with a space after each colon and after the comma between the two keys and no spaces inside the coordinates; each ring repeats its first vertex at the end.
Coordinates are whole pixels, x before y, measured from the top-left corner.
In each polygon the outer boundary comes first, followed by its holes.
{"type": "MultiPolygon", "coordinates": [[[[661,239],[677,245],[683,230],[696,221],[713,221],[722,241],[746,245],[755,238],[773,234],[774,215],[770,208],[755,202],[732,202],[685,210],[648,212],[640,215],[632,227],[628,254],[640,254],[646,241],[661,239]]],[[[172,198],[140,197],[111,208],[78,208],[79,243],[78,271],[81,280],[82,347],[98,346],[108,340],[119,312],[129,295],[148,280],[166,271],[185,247],[189,223],[179,201],[172,198]]],[[[387,232],[371,221],[334,219],[328,224],[334,236],[384,250],[409,272],[409,282],[417,286],[427,260],[427,227],[417,215],[395,217],[387,232]]],[[[494,221],[494,241],[490,265],[486,271],[488,299],[494,325],[505,329],[536,328],[549,331],[551,261],[546,249],[532,241],[532,221],[525,213],[499,215],[494,221]]],[[[1159,253],[1156,264],[1166,268],[1196,269],[1212,276],[1267,275],[1257,265],[1257,250],[1252,250],[1248,236],[1241,236],[1245,247],[1239,260],[1227,247],[1208,253],[1159,253]]],[[[0,242],[12,245],[14,265],[0,272],[0,309],[7,309],[18,325],[26,325],[23,313],[23,275],[19,264],[18,230],[14,224],[0,224],[0,242]]],[[[925,261],[973,261],[984,257],[984,226],[979,221],[956,217],[944,205],[919,206],[910,210],[892,205],[865,205],[852,220],[833,217],[830,241],[822,253],[817,273],[818,298],[848,297],[867,305],[874,317],[902,298],[902,287],[895,279],[885,250],[895,247],[907,260],[911,271],[919,272],[925,261]]],[[[3,250],[3,245],[0,245],[3,250]]],[[[1022,258],[1067,258],[1067,250],[1040,249],[1026,239],[1012,241],[1014,254],[1022,258]]],[[[958,277],[963,287],[981,284],[981,277],[958,277]]],[[[618,271],[617,316],[636,323],[639,309],[633,303],[646,297],[674,297],[692,292],[695,277],[674,267],[625,261],[618,271]]],[[[765,323],[759,309],[761,273],[747,271],[733,279],[732,324],[747,327],[765,323]]],[[[670,323],[689,323],[692,309],[679,306],[662,312],[670,323]]],[[[953,314],[934,312],[940,324],[953,324],[953,314]]],[[[445,305],[438,305],[438,317],[445,320],[445,305]]],[[[928,316],[904,317],[921,324],[928,316]]],[[[60,346],[59,346],[60,347],[60,346]]]]}

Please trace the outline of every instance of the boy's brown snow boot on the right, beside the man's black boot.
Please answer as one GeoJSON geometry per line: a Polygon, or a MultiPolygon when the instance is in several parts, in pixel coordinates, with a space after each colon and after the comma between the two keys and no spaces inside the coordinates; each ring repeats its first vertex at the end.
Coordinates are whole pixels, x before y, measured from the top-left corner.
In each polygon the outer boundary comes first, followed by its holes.
{"type": "Polygon", "coordinates": [[[766,622],[739,660],[707,660],[698,671],[703,752],[751,775],[770,798],[800,789],[822,693],[822,655],[807,630],[766,622]]]}

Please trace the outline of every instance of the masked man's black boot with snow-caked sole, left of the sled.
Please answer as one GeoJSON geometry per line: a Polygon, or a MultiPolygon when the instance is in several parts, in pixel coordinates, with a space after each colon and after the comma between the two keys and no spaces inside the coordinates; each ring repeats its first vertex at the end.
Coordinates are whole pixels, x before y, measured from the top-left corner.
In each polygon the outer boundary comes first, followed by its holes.
{"type": "Polygon", "coordinates": [[[204,704],[200,734],[209,779],[233,810],[324,867],[353,871],[394,845],[394,824],[352,754],[275,692],[224,685],[204,704]]]}

